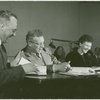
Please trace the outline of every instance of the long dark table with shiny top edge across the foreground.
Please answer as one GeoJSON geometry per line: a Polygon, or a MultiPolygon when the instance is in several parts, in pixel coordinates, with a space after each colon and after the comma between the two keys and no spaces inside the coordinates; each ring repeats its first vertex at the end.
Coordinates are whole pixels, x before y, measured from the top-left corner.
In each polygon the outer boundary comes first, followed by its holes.
{"type": "Polygon", "coordinates": [[[58,73],[26,76],[21,96],[25,99],[97,99],[100,98],[100,77],[76,77],[58,73]]]}

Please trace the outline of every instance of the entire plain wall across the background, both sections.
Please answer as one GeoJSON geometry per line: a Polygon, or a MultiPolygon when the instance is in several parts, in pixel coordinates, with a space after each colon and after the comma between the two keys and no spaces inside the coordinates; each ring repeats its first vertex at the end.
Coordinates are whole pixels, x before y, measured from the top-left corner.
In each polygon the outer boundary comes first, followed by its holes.
{"type": "MultiPolygon", "coordinates": [[[[94,37],[94,47],[100,46],[100,3],[99,2],[35,2],[6,1],[0,2],[0,9],[8,9],[18,16],[16,37],[6,44],[9,56],[15,56],[25,45],[25,36],[31,29],[41,29],[46,46],[51,38],[77,40],[82,34],[94,37]]],[[[66,53],[68,44],[62,45],[66,53]]]]}

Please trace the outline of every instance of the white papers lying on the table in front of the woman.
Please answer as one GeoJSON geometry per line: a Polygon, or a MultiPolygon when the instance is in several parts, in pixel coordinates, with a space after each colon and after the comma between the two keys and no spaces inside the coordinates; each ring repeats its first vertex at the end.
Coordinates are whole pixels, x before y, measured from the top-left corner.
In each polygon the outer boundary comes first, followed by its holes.
{"type": "Polygon", "coordinates": [[[89,67],[72,67],[72,70],[69,70],[68,72],[59,72],[59,74],[71,75],[71,76],[95,75],[94,72],[90,72],[89,70],[90,70],[89,67]]]}

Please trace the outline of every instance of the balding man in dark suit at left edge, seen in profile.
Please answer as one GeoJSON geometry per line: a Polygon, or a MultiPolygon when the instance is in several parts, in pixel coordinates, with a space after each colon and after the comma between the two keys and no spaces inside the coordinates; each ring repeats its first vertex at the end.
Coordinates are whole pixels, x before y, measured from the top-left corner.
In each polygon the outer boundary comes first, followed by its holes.
{"type": "Polygon", "coordinates": [[[16,30],[17,16],[11,11],[0,10],[0,99],[15,97],[13,85],[17,86],[17,82],[22,80],[26,73],[34,69],[31,63],[13,68],[10,65],[8,66],[7,52],[4,45],[9,38],[15,36],[16,30]]]}

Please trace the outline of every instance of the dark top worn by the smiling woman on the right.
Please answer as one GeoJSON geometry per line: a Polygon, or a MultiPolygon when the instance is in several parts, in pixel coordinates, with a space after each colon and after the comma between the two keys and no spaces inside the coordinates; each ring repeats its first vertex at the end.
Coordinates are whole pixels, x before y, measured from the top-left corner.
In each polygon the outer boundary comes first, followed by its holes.
{"type": "Polygon", "coordinates": [[[86,54],[80,55],[77,49],[67,54],[66,61],[71,61],[71,66],[73,67],[92,67],[96,65],[91,51],[86,54]]]}

